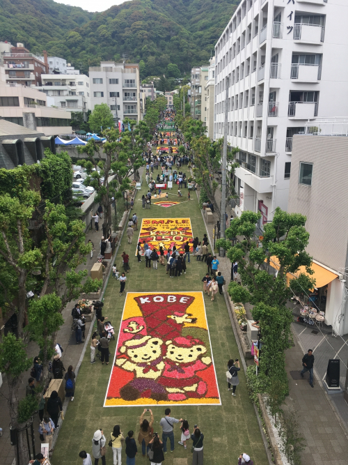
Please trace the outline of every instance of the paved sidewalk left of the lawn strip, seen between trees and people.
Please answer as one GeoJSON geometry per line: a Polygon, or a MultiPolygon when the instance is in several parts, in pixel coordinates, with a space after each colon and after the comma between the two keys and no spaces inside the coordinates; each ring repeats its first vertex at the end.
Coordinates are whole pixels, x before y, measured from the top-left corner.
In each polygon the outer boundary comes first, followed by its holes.
{"type": "MultiPolygon", "coordinates": [[[[103,221],[103,220],[102,220],[103,221]]],[[[102,224],[101,221],[101,224],[102,224]]],[[[97,261],[97,255],[100,253],[100,240],[102,238],[102,228],[99,231],[95,231],[95,229],[89,230],[86,233],[86,242],[90,239],[94,246],[95,251],[93,252],[93,259],[90,259],[89,255],[86,257],[86,264],[81,264],[78,270],[88,270],[88,274],[90,274],[90,268],[92,268],[93,264],[97,261]]],[[[79,362],[79,358],[81,357],[81,353],[84,349],[84,344],[77,345],[75,342],[74,333],[71,331],[72,325],[72,317],[71,317],[71,310],[74,307],[75,301],[72,301],[66,305],[65,309],[62,312],[62,316],[64,319],[64,323],[61,326],[60,330],[58,331],[57,335],[57,342],[63,346],[63,355],[62,361],[65,369],[68,369],[69,365],[72,365],[73,369],[76,368],[77,363],[79,362]]],[[[86,323],[86,337],[88,335],[88,330],[90,328],[90,322],[86,323]]],[[[29,357],[35,357],[39,353],[39,348],[35,342],[29,342],[28,344],[28,355],[29,357]]],[[[21,389],[19,390],[19,399],[25,397],[25,390],[26,390],[26,383],[30,377],[30,369],[23,377],[23,384],[21,389]]],[[[0,427],[3,429],[3,436],[0,438],[0,464],[1,465],[10,465],[13,463],[15,458],[15,448],[10,445],[10,414],[8,411],[8,383],[6,380],[6,375],[3,375],[3,385],[0,388],[0,411],[1,411],[1,422],[0,427]]],[[[39,427],[40,420],[38,418],[38,414],[34,416],[34,432],[35,432],[35,453],[40,452],[40,438],[38,434],[38,427],[39,427]]],[[[55,433],[55,436],[58,432],[55,433]]]]}

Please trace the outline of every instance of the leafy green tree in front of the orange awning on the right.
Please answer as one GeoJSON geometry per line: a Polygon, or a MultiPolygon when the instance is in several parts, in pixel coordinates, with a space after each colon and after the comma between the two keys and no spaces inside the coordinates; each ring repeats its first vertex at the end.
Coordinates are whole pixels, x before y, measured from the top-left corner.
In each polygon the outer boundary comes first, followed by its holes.
{"type": "MultiPolygon", "coordinates": [[[[262,335],[258,386],[267,392],[271,381],[277,379],[285,386],[282,399],[277,400],[280,404],[287,395],[285,349],[290,347],[292,340],[293,317],[286,307],[292,291],[287,284],[287,274],[298,272],[300,266],[305,266],[309,275],[313,274],[310,268],[312,259],[306,252],[309,234],[305,228],[305,216],[276,208],[274,219],[264,224],[261,241],[255,235],[255,224],[259,219],[260,213],[244,211],[226,229],[226,239],[219,239],[216,246],[223,247],[232,262],[238,262],[242,286],[231,281],[228,293],[233,302],[253,305],[251,313],[253,319],[259,321],[262,335]],[[235,237],[244,239],[232,246],[230,240],[235,237]],[[275,265],[276,275],[269,273],[272,263],[278,264],[275,265]]],[[[306,288],[313,287],[315,280],[304,273],[301,275],[306,288]]],[[[248,371],[253,371],[253,367],[248,371]]]]}

